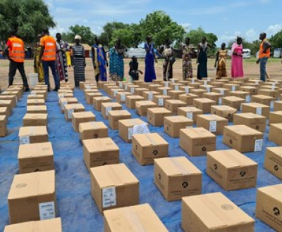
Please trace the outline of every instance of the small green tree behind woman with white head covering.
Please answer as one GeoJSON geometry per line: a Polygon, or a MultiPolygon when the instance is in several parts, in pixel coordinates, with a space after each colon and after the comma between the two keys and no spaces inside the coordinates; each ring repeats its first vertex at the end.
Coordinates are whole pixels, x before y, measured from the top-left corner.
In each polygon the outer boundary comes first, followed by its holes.
{"type": "Polygon", "coordinates": [[[62,34],[62,39],[64,41],[68,41],[73,43],[75,41],[75,35],[78,34],[81,39],[82,44],[89,44],[92,46],[94,44],[94,38],[96,35],[92,32],[90,27],[80,26],[80,25],[74,25],[68,28],[69,32],[62,34]]]}

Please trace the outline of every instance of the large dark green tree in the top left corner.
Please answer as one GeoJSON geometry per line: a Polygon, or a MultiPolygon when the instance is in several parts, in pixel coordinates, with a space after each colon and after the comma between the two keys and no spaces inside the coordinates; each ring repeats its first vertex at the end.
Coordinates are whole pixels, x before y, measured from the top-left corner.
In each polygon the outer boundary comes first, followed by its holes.
{"type": "Polygon", "coordinates": [[[0,21],[1,40],[8,37],[8,30],[16,30],[27,43],[37,41],[42,29],[56,26],[43,0],[1,0],[0,21]]]}

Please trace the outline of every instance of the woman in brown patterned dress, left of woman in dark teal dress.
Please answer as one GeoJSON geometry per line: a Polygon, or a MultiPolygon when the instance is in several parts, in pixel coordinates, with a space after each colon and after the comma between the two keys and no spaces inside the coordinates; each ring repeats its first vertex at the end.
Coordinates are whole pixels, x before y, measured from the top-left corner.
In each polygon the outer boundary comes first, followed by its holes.
{"type": "Polygon", "coordinates": [[[182,73],[183,81],[193,77],[193,68],[192,68],[192,55],[193,48],[190,45],[190,38],[185,39],[185,44],[182,46],[182,73]]]}

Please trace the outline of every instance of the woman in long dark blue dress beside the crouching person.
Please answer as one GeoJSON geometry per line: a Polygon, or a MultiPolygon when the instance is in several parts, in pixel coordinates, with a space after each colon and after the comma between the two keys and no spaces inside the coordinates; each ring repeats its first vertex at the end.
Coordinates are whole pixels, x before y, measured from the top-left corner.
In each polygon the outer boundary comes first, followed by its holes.
{"type": "Polygon", "coordinates": [[[156,71],[154,70],[154,62],[157,63],[156,54],[154,52],[154,43],[152,37],[146,38],[145,44],[146,56],[145,56],[145,82],[152,82],[156,79],[156,71]]]}

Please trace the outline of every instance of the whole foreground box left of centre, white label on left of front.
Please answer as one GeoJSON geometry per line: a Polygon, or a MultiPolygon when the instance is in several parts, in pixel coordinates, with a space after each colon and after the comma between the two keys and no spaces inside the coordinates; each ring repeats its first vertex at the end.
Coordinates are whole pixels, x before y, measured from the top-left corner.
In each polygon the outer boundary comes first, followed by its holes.
{"type": "Polygon", "coordinates": [[[139,204],[139,181],[124,164],[92,167],[90,176],[91,193],[101,214],[139,204]]]}

